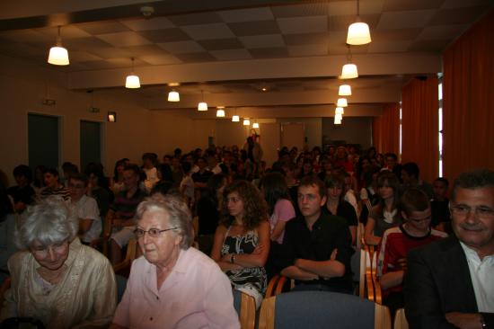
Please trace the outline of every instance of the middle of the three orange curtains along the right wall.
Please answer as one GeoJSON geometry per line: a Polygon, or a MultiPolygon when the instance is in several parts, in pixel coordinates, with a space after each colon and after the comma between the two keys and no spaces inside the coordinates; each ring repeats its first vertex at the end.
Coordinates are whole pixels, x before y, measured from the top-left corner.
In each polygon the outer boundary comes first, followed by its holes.
{"type": "Polygon", "coordinates": [[[419,164],[420,179],[432,182],[439,172],[437,78],[414,78],[401,91],[401,163],[419,164]]]}

